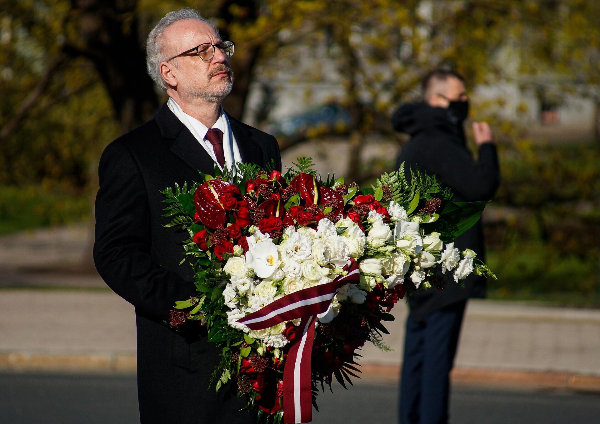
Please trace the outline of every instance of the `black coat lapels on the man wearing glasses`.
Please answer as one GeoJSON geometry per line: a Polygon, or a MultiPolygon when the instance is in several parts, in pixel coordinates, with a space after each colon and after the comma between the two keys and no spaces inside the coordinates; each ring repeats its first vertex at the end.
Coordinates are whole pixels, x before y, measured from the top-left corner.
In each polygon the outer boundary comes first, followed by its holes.
{"type": "MultiPolygon", "coordinates": [[[[254,140],[250,127],[232,118],[229,113],[227,113],[227,118],[229,118],[233,136],[238,144],[242,162],[251,162],[263,166],[262,149],[254,140]]],[[[160,128],[161,136],[164,139],[174,140],[171,146],[173,154],[188,164],[194,171],[205,173],[214,171],[212,158],[206,154],[205,149],[200,146],[198,140],[190,133],[183,122],[179,121],[175,114],[171,112],[166,102],[154,115],[154,119],[158,124],[158,128],[160,128]]]]}

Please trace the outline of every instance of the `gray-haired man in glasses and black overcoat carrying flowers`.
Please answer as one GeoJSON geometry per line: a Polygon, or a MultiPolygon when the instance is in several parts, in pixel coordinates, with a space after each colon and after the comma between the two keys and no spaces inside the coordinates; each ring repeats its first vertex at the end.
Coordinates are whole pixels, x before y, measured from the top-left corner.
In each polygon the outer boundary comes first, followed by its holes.
{"type": "MultiPolygon", "coordinates": [[[[209,381],[220,352],[206,328],[190,321],[175,332],[176,300],[196,293],[178,245],[188,234],[165,228],[160,190],[199,179],[198,171],[238,162],[281,170],[277,140],[227,115],[221,101],[233,85],[223,41],[197,11],[168,13],[148,35],[147,65],[169,96],[153,119],[104,150],[98,167],[94,261],[119,296],[135,306],[137,381],[142,424],[254,422],[237,387],[217,394],[209,381]]],[[[142,76],[140,76],[142,77],[142,76]]]]}

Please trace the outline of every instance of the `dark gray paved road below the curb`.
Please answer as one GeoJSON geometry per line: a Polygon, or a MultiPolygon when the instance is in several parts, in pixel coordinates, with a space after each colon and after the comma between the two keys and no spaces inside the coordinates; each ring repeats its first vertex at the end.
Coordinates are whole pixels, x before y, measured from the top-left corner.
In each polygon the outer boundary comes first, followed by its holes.
{"type": "MultiPolygon", "coordinates": [[[[315,424],[396,422],[395,385],[361,383],[319,397],[315,424]]],[[[452,422],[460,424],[596,424],[600,396],[457,387],[452,422]]],[[[130,375],[0,374],[2,424],[134,424],[135,377],[130,375]]]]}

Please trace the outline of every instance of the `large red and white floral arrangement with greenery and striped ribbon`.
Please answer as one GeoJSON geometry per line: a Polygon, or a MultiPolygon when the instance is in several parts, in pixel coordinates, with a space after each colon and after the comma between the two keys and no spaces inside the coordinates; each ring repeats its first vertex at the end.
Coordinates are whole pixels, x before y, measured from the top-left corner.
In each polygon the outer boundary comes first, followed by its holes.
{"type": "Polygon", "coordinates": [[[282,175],[254,164],[164,190],[167,226],[189,233],[184,261],[197,295],[176,302],[170,325],[201,321],[248,407],[274,422],[310,422],[317,383],[358,377],[355,352],[385,349],[382,321],[405,293],[443,289],[472,272],[493,275],[452,240],[484,203],[455,203],[433,176],[403,167],[371,188],[323,181],[301,158],[282,175]],[[284,414],[285,411],[285,414],[284,414]]]}

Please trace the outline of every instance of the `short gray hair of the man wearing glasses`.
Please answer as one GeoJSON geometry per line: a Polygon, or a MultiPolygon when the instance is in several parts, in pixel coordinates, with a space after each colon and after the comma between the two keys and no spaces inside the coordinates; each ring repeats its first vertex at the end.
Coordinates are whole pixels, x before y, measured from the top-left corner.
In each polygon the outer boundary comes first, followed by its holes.
{"type": "Polygon", "coordinates": [[[214,23],[200,16],[198,11],[188,7],[181,10],[173,10],[167,13],[163,19],[159,20],[156,26],[152,28],[152,31],[150,31],[150,34],[148,34],[148,40],[146,41],[146,68],[152,80],[163,90],[167,89],[167,85],[160,75],[160,64],[167,59],[164,55],[165,40],[163,34],[169,25],[184,19],[197,19],[206,22],[214,28],[217,35],[219,34],[214,23]]]}

